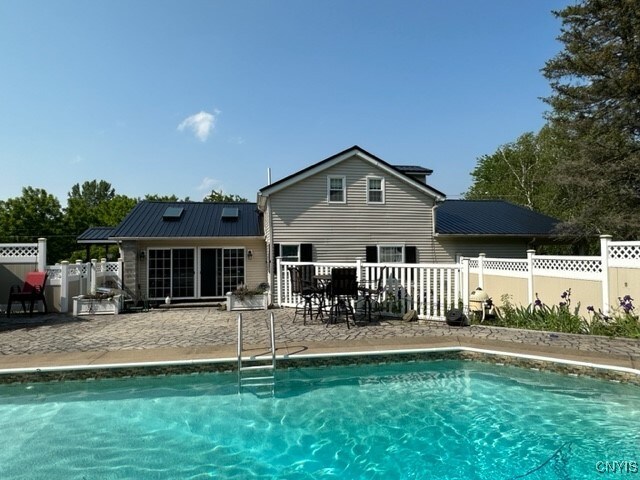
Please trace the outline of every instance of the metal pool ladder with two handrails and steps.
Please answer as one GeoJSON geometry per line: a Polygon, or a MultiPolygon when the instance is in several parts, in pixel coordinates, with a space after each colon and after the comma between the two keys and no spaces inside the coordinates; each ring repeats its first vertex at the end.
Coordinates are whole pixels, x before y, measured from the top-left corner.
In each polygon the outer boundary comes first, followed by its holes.
{"type": "Polygon", "coordinates": [[[269,315],[269,343],[270,353],[242,357],[242,314],[238,314],[238,393],[245,388],[263,390],[269,388],[271,394],[276,388],[276,336],[274,315],[269,315]]]}

